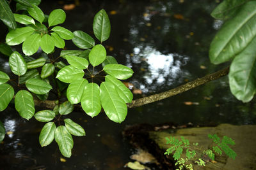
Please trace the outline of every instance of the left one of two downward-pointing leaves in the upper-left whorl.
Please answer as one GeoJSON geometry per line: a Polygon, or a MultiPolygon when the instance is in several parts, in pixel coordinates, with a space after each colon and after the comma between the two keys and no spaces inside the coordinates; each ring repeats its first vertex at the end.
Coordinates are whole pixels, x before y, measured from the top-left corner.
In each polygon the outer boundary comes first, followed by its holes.
{"type": "Polygon", "coordinates": [[[22,52],[25,55],[33,55],[37,52],[41,41],[40,34],[32,34],[26,38],[24,43],[22,44],[22,52]]]}

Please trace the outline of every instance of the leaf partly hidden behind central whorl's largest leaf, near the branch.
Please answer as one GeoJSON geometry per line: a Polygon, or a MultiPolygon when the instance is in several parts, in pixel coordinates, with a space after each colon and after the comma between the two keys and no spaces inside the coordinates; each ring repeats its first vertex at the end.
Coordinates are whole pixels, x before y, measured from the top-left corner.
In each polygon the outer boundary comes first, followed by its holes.
{"type": "Polygon", "coordinates": [[[132,102],[132,92],[124,85],[124,83],[122,83],[122,81],[117,80],[116,78],[113,78],[113,76],[109,75],[105,77],[105,80],[106,82],[109,82],[115,86],[118,96],[121,97],[125,103],[132,102]]]}

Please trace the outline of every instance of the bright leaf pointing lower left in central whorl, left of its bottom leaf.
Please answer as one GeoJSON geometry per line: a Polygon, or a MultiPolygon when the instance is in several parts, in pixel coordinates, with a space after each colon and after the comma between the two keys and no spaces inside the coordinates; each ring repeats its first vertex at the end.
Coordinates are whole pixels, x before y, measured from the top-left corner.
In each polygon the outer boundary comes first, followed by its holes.
{"type": "Polygon", "coordinates": [[[83,78],[83,79],[74,80],[68,85],[67,98],[68,98],[68,101],[70,101],[70,103],[72,104],[80,103],[84,86],[86,84],[88,84],[88,81],[83,78]]]}

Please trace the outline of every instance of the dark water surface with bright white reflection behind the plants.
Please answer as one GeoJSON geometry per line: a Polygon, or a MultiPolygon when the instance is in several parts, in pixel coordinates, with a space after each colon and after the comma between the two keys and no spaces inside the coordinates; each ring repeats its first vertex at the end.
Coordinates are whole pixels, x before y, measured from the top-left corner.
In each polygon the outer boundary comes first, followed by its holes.
{"type": "MultiPolygon", "coordinates": [[[[49,15],[68,3],[74,2],[43,1],[40,7],[49,15]]],[[[67,21],[63,25],[71,31],[82,30],[92,35],[95,13],[102,8],[108,12],[111,37],[104,45],[108,47],[108,55],[134,70],[134,76],[127,81],[142,91],[134,94],[136,99],[172,89],[227,66],[215,66],[208,58],[209,44],[221,25],[209,15],[216,5],[212,0],[80,1],[74,10],[66,11],[67,21]],[[115,15],[111,15],[113,11],[115,15]],[[204,67],[206,69],[202,69],[204,67]]],[[[67,48],[77,49],[71,41],[67,41],[67,48]]],[[[3,55],[0,63],[1,71],[8,70],[3,55]]],[[[92,119],[85,113],[75,112],[69,118],[84,127],[86,136],[74,137],[72,157],[61,162],[55,142],[40,147],[38,136],[44,124],[33,118],[29,121],[20,118],[11,104],[0,114],[6,131],[13,132],[6,134],[0,145],[0,169],[125,169],[124,164],[131,161],[129,156],[135,152],[122,138],[121,132],[127,125],[255,124],[256,112],[255,100],[244,104],[230,94],[225,76],[169,99],[129,109],[122,124],[110,122],[104,113],[92,119]]]]}

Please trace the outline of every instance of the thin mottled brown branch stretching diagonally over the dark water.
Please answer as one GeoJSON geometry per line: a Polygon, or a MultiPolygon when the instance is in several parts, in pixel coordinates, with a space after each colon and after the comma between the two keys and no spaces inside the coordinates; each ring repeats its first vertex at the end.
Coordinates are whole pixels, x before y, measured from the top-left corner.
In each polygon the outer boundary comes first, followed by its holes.
{"type": "MultiPolygon", "coordinates": [[[[195,87],[203,85],[209,81],[221,78],[222,76],[227,75],[228,71],[229,71],[229,67],[226,67],[225,69],[222,69],[221,71],[217,71],[215,73],[208,74],[207,76],[204,76],[202,78],[197,78],[194,81],[190,81],[184,85],[180,85],[179,87],[168,90],[166,92],[161,92],[159,94],[154,94],[151,96],[133,100],[131,103],[127,103],[127,107],[134,108],[134,107],[142,106],[144,104],[153,103],[156,101],[166,99],[168,97],[175,96],[176,94],[180,94],[180,93],[186,92],[190,89],[194,89],[195,87]]],[[[54,101],[39,101],[38,99],[34,99],[34,101],[35,101],[35,106],[45,107],[45,108],[49,108],[49,109],[54,108],[54,106],[56,105],[54,103],[54,101]]],[[[76,104],[76,106],[81,109],[80,104],[76,104]]]]}

